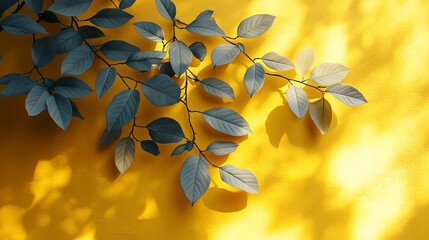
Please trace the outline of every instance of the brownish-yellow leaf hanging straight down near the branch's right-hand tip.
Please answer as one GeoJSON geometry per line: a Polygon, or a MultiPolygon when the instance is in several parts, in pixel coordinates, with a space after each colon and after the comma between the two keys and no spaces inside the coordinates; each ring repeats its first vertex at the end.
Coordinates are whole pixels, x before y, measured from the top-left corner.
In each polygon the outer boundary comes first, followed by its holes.
{"type": "Polygon", "coordinates": [[[310,103],[310,117],[320,132],[326,134],[332,121],[331,104],[325,98],[310,103]]]}

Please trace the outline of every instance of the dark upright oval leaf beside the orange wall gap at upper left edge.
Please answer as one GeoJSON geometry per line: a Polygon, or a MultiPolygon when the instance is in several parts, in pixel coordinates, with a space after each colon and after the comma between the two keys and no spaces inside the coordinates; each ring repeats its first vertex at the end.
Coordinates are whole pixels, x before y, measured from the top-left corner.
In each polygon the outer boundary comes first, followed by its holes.
{"type": "Polygon", "coordinates": [[[51,37],[36,40],[31,48],[31,57],[36,67],[48,65],[55,57],[55,44],[51,37]]]}

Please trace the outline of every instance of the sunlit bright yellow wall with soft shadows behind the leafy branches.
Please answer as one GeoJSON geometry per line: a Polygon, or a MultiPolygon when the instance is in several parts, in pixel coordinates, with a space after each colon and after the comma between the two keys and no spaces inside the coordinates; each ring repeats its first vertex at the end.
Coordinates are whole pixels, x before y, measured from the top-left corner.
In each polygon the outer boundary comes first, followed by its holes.
{"type": "MultiPolygon", "coordinates": [[[[107,0],[96,2],[94,10],[110,6],[107,0]]],[[[168,22],[158,15],[154,1],[137,2],[130,10],[132,21],[105,32],[142,49],[159,47],[140,37],[132,22],[156,19],[169,29],[168,22]]],[[[227,80],[236,102],[208,97],[195,86],[191,107],[227,106],[249,121],[254,133],[234,138],[240,143],[237,151],[213,161],[252,170],[260,193],[245,194],[214,176],[208,192],[191,207],[179,183],[185,156],[169,156],[174,145],[162,146],[158,157],[137,151],[125,176],[115,168],[113,147],[98,147],[106,106],[123,89],[119,82],[101,100],[95,94],[78,100],[85,120],[73,119],[67,132],[46,112],[28,117],[25,97],[2,97],[0,239],[427,239],[428,1],[175,2],[185,22],[214,10],[228,35],[235,35],[239,22],[250,15],[277,16],[269,32],[242,41],[250,55],[276,51],[294,59],[312,47],[317,64],[348,66],[344,82],[369,103],[351,108],[329,98],[334,122],[322,136],[308,114],[298,120],[285,105],[279,89],[284,91],[286,82],[268,78],[250,99],[242,81],[250,65],[244,57],[216,70],[207,59],[195,71],[227,80]]],[[[188,43],[202,40],[185,32],[179,37],[188,43]]],[[[210,51],[222,43],[217,38],[204,41],[210,51]]],[[[1,75],[31,69],[30,43],[31,36],[0,33],[1,75]]],[[[63,57],[41,70],[58,78],[63,57]]],[[[94,87],[101,67],[96,61],[93,71],[81,77],[94,87]]],[[[138,114],[145,123],[171,116],[186,126],[183,106],[155,108],[142,101],[138,114]]],[[[230,139],[211,130],[200,116],[194,121],[201,145],[230,139]]]]}

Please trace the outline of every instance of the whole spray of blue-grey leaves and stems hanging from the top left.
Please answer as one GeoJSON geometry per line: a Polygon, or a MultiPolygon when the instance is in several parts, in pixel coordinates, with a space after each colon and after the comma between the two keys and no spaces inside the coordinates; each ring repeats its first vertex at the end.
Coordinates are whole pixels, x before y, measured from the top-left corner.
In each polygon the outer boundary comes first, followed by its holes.
{"type": "Polygon", "coordinates": [[[207,153],[217,156],[232,153],[238,147],[235,142],[217,140],[205,148],[197,144],[196,132],[191,120],[192,114],[201,114],[209,126],[230,136],[247,135],[251,133],[251,128],[239,113],[229,108],[218,107],[204,111],[189,108],[190,82],[199,84],[208,94],[220,98],[235,99],[235,95],[227,81],[217,78],[202,80],[198,78],[190,67],[191,61],[193,57],[204,61],[207,48],[202,42],[187,44],[179,40],[176,31],[186,30],[204,37],[223,38],[225,43],[217,45],[211,52],[213,67],[228,64],[239,54],[244,54],[252,63],[243,78],[250,96],[260,91],[266,76],[287,80],[289,87],[285,97],[291,111],[301,119],[309,109],[311,119],[323,134],[328,131],[332,118],[332,110],[324,97],[325,93],[332,94],[351,106],[366,102],[358,90],[340,83],[348,73],[348,69],[340,64],[319,65],[306,78],[314,63],[314,51],[311,49],[301,52],[295,64],[275,52],[269,52],[260,58],[250,57],[245,46],[235,40],[255,38],[266,32],[274,21],[271,15],[258,14],[244,19],[237,27],[237,36],[229,37],[212,18],[213,11],[203,11],[195,20],[185,23],[177,18],[176,5],[171,0],[155,0],[161,16],[171,22],[173,34],[166,37],[164,30],[154,22],[135,22],[133,25],[138,33],[162,44],[161,51],[141,50],[125,40],[110,40],[101,45],[91,44],[91,39],[105,36],[103,28],[116,28],[129,22],[133,16],[124,9],[135,3],[135,0],[122,0],[117,4],[110,0],[113,8],[102,9],[88,19],[79,19],[78,16],[91,6],[92,1],[58,0],[46,8],[43,8],[43,0],[0,2],[0,17],[7,9],[16,5],[11,14],[1,19],[0,31],[5,30],[13,35],[32,34],[31,56],[34,63],[29,72],[11,73],[1,77],[0,84],[6,85],[1,95],[26,94],[25,108],[28,115],[35,116],[47,109],[53,121],[66,130],[72,116],[83,118],[72,99],[85,97],[92,92],[85,81],[76,76],[90,69],[94,59],[99,59],[106,67],[99,70],[96,79],[97,96],[103,97],[118,78],[126,88],[116,94],[107,107],[107,126],[100,144],[106,146],[119,140],[116,144],[115,163],[121,174],[124,174],[132,165],[136,143],[140,144],[143,151],[153,155],[159,154],[158,144],[166,143],[179,144],[172,152],[172,156],[185,151],[197,151],[197,155],[190,155],[184,161],[180,172],[183,192],[192,205],[209,187],[209,166],[219,169],[224,182],[249,193],[258,192],[258,182],[249,170],[232,165],[217,166],[208,159],[207,153]],[[35,13],[37,20],[18,13],[25,5],[35,13]],[[70,19],[69,25],[59,20],[65,18],[70,19]],[[58,33],[48,34],[41,22],[59,24],[63,28],[58,33]],[[50,64],[57,54],[66,54],[66,56],[61,65],[62,77],[54,80],[45,77],[39,68],[50,64]],[[156,74],[149,79],[135,79],[121,74],[118,66],[128,66],[138,72],[154,71],[156,74]],[[282,75],[282,72],[292,69],[296,69],[302,79],[292,79],[282,75]],[[276,72],[270,72],[270,70],[276,72]],[[185,79],[181,85],[176,81],[179,78],[185,79]],[[321,97],[310,102],[303,86],[317,89],[321,97]],[[181,125],[168,117],[155,119],[147,125],[138,124],[136,116],[140,105],[140,94],[159,107],[183,104],[187,111],[188,127],[192,131],[192,136],[185,136],[181,125]],[[130,132],[126,137],[121,138],[122,129],[129,124],[132,124],[130,132]],[[148,139],[136,136],[135,128],[146,129],[148,139]]]}

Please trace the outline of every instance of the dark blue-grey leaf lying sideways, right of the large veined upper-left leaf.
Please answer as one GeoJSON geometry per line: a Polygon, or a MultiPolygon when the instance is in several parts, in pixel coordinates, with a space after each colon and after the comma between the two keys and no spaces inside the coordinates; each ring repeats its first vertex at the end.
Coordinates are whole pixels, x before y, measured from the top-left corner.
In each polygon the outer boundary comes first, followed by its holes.
{"type": "Polygon", "coordinates": [[[140,51],[138,47],[122,40],[111,40],[100,47],[100,52],[114,61],[127,60],[130,55],[138,51],[140,51]]]}

